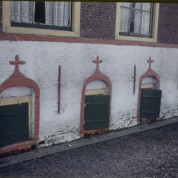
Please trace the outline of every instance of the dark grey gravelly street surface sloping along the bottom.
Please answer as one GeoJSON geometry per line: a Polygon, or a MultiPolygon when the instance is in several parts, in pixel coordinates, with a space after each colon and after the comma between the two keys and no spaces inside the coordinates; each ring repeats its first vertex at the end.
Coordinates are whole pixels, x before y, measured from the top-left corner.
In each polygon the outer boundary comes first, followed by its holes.
{"type": "Polygon", "coordinates": [[[11,165],[0,177],[178,177],[178,123],[11,165]]]}

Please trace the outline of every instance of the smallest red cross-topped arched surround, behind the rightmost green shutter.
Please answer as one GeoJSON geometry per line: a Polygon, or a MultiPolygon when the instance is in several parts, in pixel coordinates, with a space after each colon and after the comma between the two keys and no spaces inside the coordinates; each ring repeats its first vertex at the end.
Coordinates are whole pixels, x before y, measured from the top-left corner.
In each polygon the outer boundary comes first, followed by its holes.
{"type": "MultiPolygon", "coordinates": [[[[148,70],[141,76],[140,78],[140,82],[139,82],[139,91],[138,91],[138,107],[137,107],[137,122],[140,121],[140,113],[139,113],[139,109],[140,109],[140,96],[141,96],[141,85],[142,85],[142,81],[145,77],[155,77],[158,81],[158,90],[160,88],[160,79],[158,74],[156,74],[152,69],[151,69],[151,63],[154,62],[153,60],[151,60],[151,57],[149,57],[149,60],[147,60],[147,62],[149,63],[149,68],[148,70]]],[[[152,119],[144,119],[144,121],[150,121],[152,119]]]]}

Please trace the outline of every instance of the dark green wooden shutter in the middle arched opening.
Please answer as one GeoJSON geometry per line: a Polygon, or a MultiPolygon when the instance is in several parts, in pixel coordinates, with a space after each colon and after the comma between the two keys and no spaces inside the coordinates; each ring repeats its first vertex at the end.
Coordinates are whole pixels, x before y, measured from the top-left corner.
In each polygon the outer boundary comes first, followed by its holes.
{"type": "Polygon", "coordinates": [[[110,95],[85,96],[84,130],[109,127],[110,95]]]}

